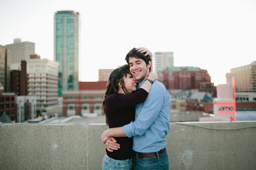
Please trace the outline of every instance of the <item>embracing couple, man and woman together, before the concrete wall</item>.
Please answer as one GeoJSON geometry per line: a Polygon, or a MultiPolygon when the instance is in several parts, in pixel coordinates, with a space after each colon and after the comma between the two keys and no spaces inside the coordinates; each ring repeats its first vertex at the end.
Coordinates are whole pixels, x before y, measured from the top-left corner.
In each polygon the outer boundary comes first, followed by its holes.
{"type": "Polygon", "coordinates": [[[102,102],[109,126],[101,136],[107,152],[102,170],[169,169],[170,94],[151,71],[147,48],[133,48],[125,60],[128,65],[109,75],[102,102]]]}

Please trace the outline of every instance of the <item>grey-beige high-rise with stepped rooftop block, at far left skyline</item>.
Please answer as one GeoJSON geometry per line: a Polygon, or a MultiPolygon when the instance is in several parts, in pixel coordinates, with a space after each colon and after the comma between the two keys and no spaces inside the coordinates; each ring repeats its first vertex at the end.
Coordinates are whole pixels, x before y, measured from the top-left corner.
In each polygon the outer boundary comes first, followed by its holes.
{"type": "Polygon", "coordinates": [[[14,39],[13,44],[5,45],[11,51],[11,64],[21,63],[21,60],[30,58],[30,54],[35,54],[34,42],[21,42],[21,39],[14,39]]]}

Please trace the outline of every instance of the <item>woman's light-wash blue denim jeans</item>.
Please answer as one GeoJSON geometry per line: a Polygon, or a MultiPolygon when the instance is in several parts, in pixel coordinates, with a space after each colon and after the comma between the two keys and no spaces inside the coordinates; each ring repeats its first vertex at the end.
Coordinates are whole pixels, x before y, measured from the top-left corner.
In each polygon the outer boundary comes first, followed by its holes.
{"type": "Polygon", "coordinates": [[[102,162],[102,170],[115,170],[115,169],[122,169],[122,170],[130,170],[133,169],[133,161],[132,159],[126,159],[126,160],[116,160],[109,158],[107,153],[105,154],[102,162]]]}

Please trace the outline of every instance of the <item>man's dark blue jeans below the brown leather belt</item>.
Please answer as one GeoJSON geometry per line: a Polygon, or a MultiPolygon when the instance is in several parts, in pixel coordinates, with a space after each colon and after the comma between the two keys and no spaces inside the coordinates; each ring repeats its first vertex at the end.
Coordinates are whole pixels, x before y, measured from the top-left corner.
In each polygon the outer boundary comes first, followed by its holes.
{"type": "Polygon", "coordinates": [[[137,158],[136,154],[133,166],[135,170],[168,170],[169,158],[167,151],[161,155],[144,158],[137,158]]]}

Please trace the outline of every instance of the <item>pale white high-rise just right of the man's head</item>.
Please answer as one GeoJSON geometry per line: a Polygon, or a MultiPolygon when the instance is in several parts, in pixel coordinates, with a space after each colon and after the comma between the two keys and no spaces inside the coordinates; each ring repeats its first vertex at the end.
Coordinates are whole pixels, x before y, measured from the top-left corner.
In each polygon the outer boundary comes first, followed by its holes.
{"type": "Polygon", "coordinates": [[[173,52],[155,52],[153,55],[153,71],[156,73],[161,69],[173,67],[173,52]]]}

